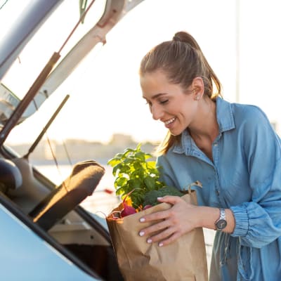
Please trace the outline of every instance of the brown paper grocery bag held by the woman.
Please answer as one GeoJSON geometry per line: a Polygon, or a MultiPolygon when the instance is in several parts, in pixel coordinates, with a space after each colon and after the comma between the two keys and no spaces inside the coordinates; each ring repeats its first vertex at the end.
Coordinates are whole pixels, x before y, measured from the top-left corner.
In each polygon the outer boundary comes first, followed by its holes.
{"type": "MultiPolygon", "coordinates": [[[[196,192],[183,195],[186,202],[197,204],[196,192]]],[[[115,249],[119,269],[126,281],[207,281],[207,255],[202,228],[196,228],[175,242],[159,247],[138,235],[151,223],[140,223],[144,214],[169,209],[161,203],[124,218],[107,216],[107,226],[115,249]]],[[[121,211],[122,203],[113,211],[121,211]]],[[[188,214],[186,214],[188,216],[188,214]]]]}

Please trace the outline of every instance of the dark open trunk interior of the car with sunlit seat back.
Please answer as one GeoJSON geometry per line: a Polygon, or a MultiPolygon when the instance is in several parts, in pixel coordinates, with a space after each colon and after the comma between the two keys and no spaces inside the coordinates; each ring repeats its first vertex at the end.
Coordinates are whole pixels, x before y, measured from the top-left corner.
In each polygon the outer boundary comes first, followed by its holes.
{"type": "Polygon", "coordinates": [[[108,233],[79,207],[104,172],[96,161],[78,162],[70,176],[52,188],[27,159],[0,159],[0,202],[87,273],[102,280],[122,280],[108,233]]]}

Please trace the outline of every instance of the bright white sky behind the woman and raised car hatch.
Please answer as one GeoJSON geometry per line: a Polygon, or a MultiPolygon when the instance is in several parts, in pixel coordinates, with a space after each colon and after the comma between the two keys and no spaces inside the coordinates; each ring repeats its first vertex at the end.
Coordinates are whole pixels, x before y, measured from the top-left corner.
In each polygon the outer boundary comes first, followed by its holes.
{"type": "MultiPolygon", "coordinates": [[[[107,44],[81,63],[70,89],[58,89],[71,96],[49,136],[107,143],[112,133],[124,133],[139,142],[161,141],[166,129],[145,105],[138,67],[150,48],[180,30],[200,44],[223,84],[223,97],[261,107],[280,130],[280,8],[279,0],[143,1],[107,34],[107,44]],[[79,93],[87,93],[87,100],[79,93]]],[[[11,141],[28,136],[32,133],[11,141]]]]}

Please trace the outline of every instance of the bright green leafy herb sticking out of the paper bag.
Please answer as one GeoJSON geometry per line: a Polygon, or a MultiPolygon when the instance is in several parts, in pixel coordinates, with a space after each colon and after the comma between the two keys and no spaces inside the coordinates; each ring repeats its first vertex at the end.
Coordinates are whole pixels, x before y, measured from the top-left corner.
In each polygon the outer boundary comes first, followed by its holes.
{"type": "Polygon", "coordinates": [[[155,161],[151,158],[151,154],[141,150],[139,143],[135,149],[126,148],[107,162],[113,167],[116,195],[124,199],[129,194],[131,205],[138,210],[143,208],[146,193],[164,187],[164,183],[159,181],[155,161]]]}

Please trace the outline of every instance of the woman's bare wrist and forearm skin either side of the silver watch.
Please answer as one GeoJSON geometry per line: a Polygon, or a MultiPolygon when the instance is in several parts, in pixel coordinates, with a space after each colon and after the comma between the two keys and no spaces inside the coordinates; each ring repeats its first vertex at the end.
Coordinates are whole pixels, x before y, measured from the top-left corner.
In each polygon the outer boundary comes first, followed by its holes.
{"type": "MultiPolygon", "coordinates": [[[[197,207],[197,215],[199,217],[198,227],[209,228],[216,230],[215,223],[220,216],[219,208],[215,207],[197,207]]],[[[226,209],[226,228],[223,232],[233,233],[235,228],[235,218],[233,212],[230,209],[226,209]]]]}

